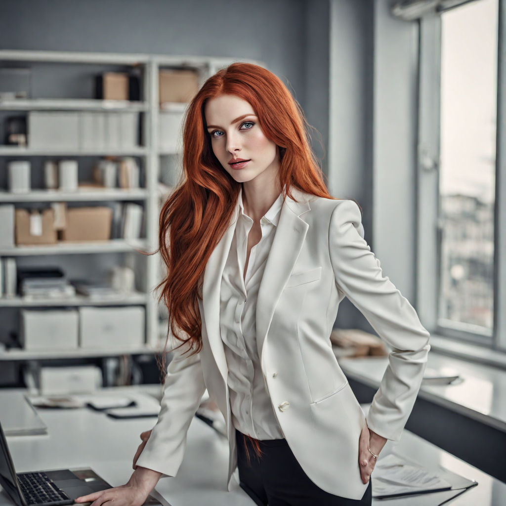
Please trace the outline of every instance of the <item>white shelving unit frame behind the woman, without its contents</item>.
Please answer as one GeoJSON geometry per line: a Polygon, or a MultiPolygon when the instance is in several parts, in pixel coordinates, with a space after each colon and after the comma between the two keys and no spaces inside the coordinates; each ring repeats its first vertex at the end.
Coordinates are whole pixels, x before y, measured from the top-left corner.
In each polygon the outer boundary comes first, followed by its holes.
{"type": "MultiPolygon", "coordinates": [[[[29,111],[102,111],[137,112],[141,117],[142,146],[129,149],[34,149],[29,143],[26,147],[0,145],[1,158],[24,157],[99,157],[99,156],[136,156],[142,161],[144,185],[142,188],[123,190],[119,188],[79,188],[75,192],[33,189],[28,193],[14,194],[0,190],[0,204],[3,203],[51,203],[51,202],[107,202],[137,201],[144,205],[145,238],[136,241],[112,239],[102,242],[57,243],[37,246],[18,246],[0,248],[0,257],[23,258],[29,262],[38,257],[54,257],[53,261],[70,255],[130,254],[136,255],[136,261],[143,265],[144,277],[142,291],[117,298],[93,299],[74,296],[65,299],[27,299],[24,297],[0,298],[0,310],[19,311],[20,308],[57,308],[80,306],[144,306],[146,309],[146,339],[141,347],[122,349],[76,349],[31,351],[11,349],[0,351],[0,361],[31,361],[50,358],[106,357],[121,354],[152,353],[158,349],[163,332],[160,331],[158,304],[152,293],[159,282],[159,258],[157,255],[142,255],[141,252],[153,252],[157,249],[158,214],[160,188],[160,158],[178,154],[176,150],[160,149],[158,143],[159,115],[163,112],[184,113],[187,104],[171,103],[160,107],[158,100],[158,72],[161,68],[191,68],[198,72],[200,84],[219,68],[232,63],[233,59],[195,56],[166,56],[147,54],[77,53],[55,51],[0,51],[0,67],[40,66],[55,64],[60,66],[76,64],[90,65],[96,72],[97,65],[109,67],[131,67],[141,69],[141,100],[115,101],[91,98],[28,98],[0,100],[0,113],[13,111],[22,114],[29,111]],[[137,251],[137,253],[136,253],[137,251]]],[[[242,60],[245,61],[245,60],[242,60]]],[[[251,63],[259,63],[249,60],[251,63]]],[[[5,113],[4,113],[5,114],[5,113]]],[[[0,165],[1,167],[2,165],[0,165]]],[[[40,260],[39,260],[40,261],[40,260]]],[[[91,262],[93,265],[93,262],[91,262]]],[[[92,276],[93,272],[90,272],[92,276]]],[[[139,285],[139,283],[137,283],[139,285]]]]}

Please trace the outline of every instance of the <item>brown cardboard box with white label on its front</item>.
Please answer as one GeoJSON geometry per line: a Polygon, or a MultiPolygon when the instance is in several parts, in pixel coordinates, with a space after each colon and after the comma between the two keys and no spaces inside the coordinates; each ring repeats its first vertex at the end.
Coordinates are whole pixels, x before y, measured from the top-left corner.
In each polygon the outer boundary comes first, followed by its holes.
{"type": "Polygon", "coordinates": [[[16,244],[55,244],[58,240],[53,209],[16,209],[16,244]]]}

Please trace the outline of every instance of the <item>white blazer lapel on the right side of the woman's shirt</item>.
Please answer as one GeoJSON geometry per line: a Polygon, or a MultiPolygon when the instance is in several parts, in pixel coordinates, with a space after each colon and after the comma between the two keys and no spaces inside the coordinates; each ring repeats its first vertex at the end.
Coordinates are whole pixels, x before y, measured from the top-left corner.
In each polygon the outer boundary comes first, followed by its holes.
{"type": "Polygon", "coordinates": [[[256,323],[260,363],[276,304],[299,258],[309,228],[309,225],[300,218],[311,209],[307,196],[297,189],[293,189],[292,194],[298,202],[289,197],[283,202],[258,292],[256,323]]]}

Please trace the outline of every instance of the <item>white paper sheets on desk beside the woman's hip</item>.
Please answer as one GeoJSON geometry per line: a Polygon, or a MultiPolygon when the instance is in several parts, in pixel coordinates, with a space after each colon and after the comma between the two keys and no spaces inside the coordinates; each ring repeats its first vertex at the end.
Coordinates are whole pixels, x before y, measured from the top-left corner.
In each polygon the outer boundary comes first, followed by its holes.
{"type": "Polygon", "coordinates": [[[372,477],[372,496],[376,498],[450,488],[451,483],[393,453],[377,461],[372,477]]]}

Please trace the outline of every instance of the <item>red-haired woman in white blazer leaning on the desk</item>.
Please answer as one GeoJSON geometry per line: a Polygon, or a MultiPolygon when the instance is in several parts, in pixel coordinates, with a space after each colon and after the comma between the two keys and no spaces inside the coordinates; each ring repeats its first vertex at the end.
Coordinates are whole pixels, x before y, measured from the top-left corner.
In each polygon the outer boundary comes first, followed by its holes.
{"type": "Polygon", "coordinates": [[[180,341],[156,426],[122,487],[79,501],[139,506],[174,476],[207,388],[230,478],[257,504],[370,504],[370,475],[418,392],[429,333],[383,276],[351,200],[333,199],[280,79],[234,63],[188,107],[185,179],[163,206],[162,298],[180,341]],[[392,347],[367,420],[330,346],[348,297],[392,347]]]}

